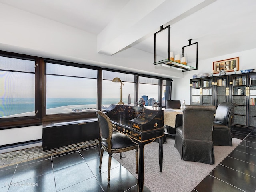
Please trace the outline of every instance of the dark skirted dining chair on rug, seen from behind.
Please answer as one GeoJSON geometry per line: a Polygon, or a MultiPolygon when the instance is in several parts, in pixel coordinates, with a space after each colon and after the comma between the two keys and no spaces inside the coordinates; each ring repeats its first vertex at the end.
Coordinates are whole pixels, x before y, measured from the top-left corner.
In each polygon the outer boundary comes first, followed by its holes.
{"type": "Polygon", "coordinates": [[[185,105],[174,146],[184,161],[214,164],[212,126],[215,106],[185,105]]]}

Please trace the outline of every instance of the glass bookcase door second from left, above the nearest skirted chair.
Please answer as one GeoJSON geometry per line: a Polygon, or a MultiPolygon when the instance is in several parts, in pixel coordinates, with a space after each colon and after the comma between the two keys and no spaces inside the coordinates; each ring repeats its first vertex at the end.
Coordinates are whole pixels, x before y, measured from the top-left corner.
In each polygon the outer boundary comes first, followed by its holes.
{"type": "Polygon", "coordinates": [[[202,105],[212,105],[212,78],[202,79],[202,105]]]}

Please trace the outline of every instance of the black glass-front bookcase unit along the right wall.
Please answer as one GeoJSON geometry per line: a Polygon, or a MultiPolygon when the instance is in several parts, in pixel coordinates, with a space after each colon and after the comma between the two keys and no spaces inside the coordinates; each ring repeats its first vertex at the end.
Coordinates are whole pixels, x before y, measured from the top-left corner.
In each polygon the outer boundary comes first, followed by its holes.
{"type": "MultiPolygon", "coordinates": [[[[199,105],[206,105],[202,100],[202,82],[212,79],[212,105],[218,107],[220,102],[236,102],[231,121],[231,128],[236,130],[256,131],[256,72],[239,73],[224,76],[190,79],[190,104],[193,100],[193,83],[200,82],[199,105]],[[254,91],[255,90],[255,91],[254,91]]],[[[210,86],[209,86],[210,88],[210,86]]]]}

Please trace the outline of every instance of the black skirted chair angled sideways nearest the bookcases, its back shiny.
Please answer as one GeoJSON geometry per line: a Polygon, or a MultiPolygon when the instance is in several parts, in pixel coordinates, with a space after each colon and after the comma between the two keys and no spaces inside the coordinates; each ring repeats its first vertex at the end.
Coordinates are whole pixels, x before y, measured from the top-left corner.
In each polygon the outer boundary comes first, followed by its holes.
{"type": "Polygon", "coordinates": [[[232,146],[230,124],[236,103],[221,102],[215,112],[213,123],[213,145],[232,146]]]}

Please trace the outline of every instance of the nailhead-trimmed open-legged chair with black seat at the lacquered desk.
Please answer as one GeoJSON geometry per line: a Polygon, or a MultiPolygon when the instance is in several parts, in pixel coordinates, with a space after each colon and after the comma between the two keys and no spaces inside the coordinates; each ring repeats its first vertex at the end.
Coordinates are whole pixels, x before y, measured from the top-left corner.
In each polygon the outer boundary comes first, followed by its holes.
{"type": "Polygon", "coordinates": [[[96,110],[96,115],[99,121],[101,144],[99,168],[101,169],[103,151],[105,150],[108,152],[108,183],[110,182],[110,168],[113,153],[120,153],[120,158],[122,158],[122,152],[135,149],[136,173],[138,173],[138,144],[134,143],[128,136],[122,133],[113,134],[110,118],[104,112],[96,110]]]}

